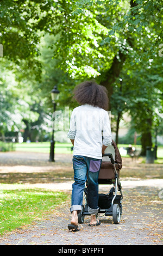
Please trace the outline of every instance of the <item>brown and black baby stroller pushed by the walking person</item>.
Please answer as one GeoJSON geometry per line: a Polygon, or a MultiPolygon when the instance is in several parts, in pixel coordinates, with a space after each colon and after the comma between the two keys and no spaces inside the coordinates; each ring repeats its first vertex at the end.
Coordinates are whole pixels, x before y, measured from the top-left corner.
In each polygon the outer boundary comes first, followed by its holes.
{"type": "MultiPolygon", "coordinates": [[[[105,216],[112,216],[115,224],[120,223],[122,215],[123,199],[122,187],[120,183],[120,169],[122,168],[122,158],[117,145],[112,141],[112,145],[108,146],[103,155],[101,169],[98,176],[98,184],[113,184],[107,194],[98,194],[98,214],[105,214],[105,216]],[[111,153],[107,153],[107,151],[111,153]],[[110,161],[109,161],[110,159],[110,161]],[[120,194],[117,192],[120,191],[120,194]]],[[[78,214],[78,222],[83,223],[85,215],[90,215],[87,205],[87,181],[84,189],[85,206],[82,205],[82,211],[78,214]]]]}

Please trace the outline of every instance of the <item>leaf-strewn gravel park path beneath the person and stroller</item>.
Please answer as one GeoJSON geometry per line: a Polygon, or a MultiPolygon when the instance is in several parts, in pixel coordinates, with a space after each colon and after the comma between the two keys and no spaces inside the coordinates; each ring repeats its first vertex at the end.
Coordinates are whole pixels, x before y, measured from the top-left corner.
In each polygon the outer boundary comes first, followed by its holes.
{"type": "MultiPolygon", "coordinates": [[[[56,154],[55,163],[47,160],[48,154],[43,153],[0,153],[1,182],[5,180],[12,187],[9,182],[12,173],[12,181],[20,181],[27,187],[65,191],[71,196],[72,155],[56,154]],[[55,172],[59,174],[58,179],[55,172]],[[63,177],[65,173],[67,175],[63,177]]],[[[123,159],[123,166],[140,168],[140,163],[123,159]]],[[[144,164],[146,169],[157,166],[144,164]]],[[[163,165],[158,168],[163,170],[163,165]]],[[[79,224],[80,231],[70,232],[67,229],[71,220],[68,200],[44,220],[0,237],[0,245],[162,245],[162,179],[151,176],[146,180],[129,178],[122,179],[121,184],[124,198],[120,224],[113,224],[111,216],[100,216],[101,225],[92,228],[88,226],[89,216],[86,216],[84,223],[79,224]]],[[[100,185],[99,190],[101,193],[109,191],[106,185],[100,185]]]]}

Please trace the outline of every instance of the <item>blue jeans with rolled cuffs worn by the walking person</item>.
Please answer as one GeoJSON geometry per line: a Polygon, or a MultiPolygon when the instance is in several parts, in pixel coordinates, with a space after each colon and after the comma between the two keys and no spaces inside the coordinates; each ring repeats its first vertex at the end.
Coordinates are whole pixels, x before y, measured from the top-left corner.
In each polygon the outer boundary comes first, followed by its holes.
{"type": "Polygon", "coordinates": [[[89,214],[98,212],[98,174],[101,159],[87,156],[73,156],[74,183],[72,184],[71,212],[82,210],[83,191],[86,179],[88,181],[87,203],[89,214]]]}

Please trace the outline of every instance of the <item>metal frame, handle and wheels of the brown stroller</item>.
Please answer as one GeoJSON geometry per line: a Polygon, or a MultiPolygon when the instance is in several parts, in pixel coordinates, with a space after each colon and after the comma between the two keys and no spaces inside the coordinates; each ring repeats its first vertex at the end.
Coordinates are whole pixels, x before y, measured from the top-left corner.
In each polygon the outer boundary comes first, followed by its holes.
{"type": "MultiPolygon", "coordinates": [[[[98,209],[98,214],[104,213],[105,216],[112,216],[112,219],[115,224],[120,223],[121,220],[121,215],[122,215],[122,204],[121,200],[123,199],[123,194],[122,194],[122,186],[121,182],[118,176],[118,172],[115,166],[115,160],[112,157],[112,154],[104,154],[103,156],[109,157],[112,167],[114,169],[114,179],[104,179],[104,180],[99,180],[99,184],[114,184],[114,187],[111,188],[108,194],[99,194],[106,197],[109,197],[110,200],[110,205],[106,205],[105,207],[99,207],[98,209]],[[121,195],[117,195],[117,191],[120,191],[121,195]],[[115,193],[114,193],[115,192],[115,193]]],[[[122,168],[122,167],[121,167],[122,168]]],[[[83,192],[83,197],[85,199],[85,206],[82,205],[82,211],[78,213],[78,222],[79,223],[84,223],[84,217],[86,215],[90,215],[88,212],[88,204],[87,204],[87,181],[86,181],[86,186],[83,192]]]]}

